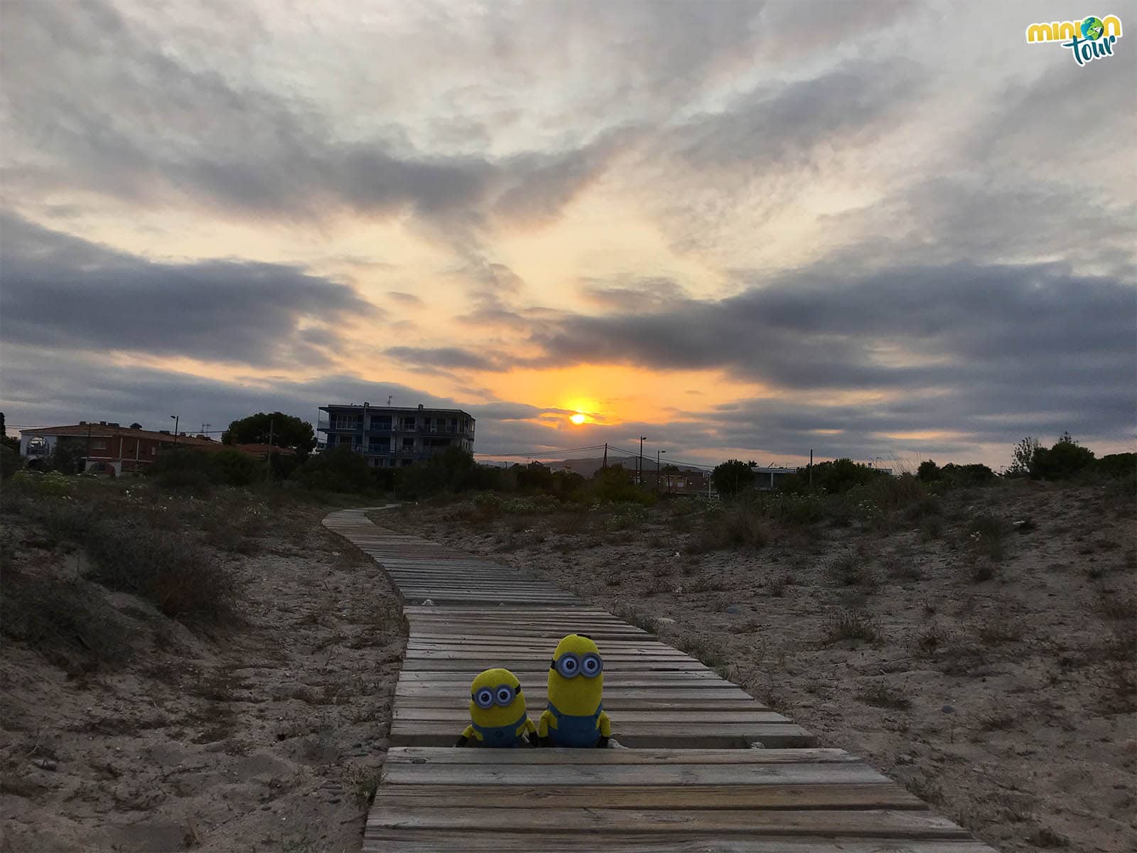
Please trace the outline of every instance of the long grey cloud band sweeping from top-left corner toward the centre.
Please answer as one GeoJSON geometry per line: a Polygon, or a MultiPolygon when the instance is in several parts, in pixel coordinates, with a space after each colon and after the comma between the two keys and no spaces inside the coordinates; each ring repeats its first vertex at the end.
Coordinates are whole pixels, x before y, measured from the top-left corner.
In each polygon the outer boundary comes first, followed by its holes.
{"type": "Polygon", "coordinates": [[[192,67],[113,7],[17,3],[9,15],[3,177],[28,198],[85,190],[291,222],[406,210],[440,238],[474,245],[495,215],[555,216],[615,150],[429,155],[397,126],[347,141],[314,105],[192,67]]]}

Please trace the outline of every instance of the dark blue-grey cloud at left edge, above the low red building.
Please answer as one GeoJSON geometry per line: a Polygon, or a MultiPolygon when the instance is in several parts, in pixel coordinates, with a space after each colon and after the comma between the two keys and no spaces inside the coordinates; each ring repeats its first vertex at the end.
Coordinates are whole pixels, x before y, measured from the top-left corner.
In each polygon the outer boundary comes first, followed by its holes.
{"type": "Polygon", "coordinates": [[[61,349],[323,364],[334,324],[377,309],[343,284],[283,264],[157,263],[0,217],[3,337],[61,349]]]}

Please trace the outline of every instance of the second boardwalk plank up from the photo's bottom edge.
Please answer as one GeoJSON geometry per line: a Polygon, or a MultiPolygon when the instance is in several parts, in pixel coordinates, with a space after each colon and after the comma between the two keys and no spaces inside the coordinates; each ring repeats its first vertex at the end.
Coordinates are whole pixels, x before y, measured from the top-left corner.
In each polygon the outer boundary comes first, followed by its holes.
{"type": "MultiPolygon", "coordinates": [[[[464,829],[521,833],[752,833],[877,838],[961,838],[966,833],[924,811],[716,809],[401,809],[376,804],[367,826],[385,829],[464,829]]],[[[583,838],[581,840],[584,840],[583,838]]],[[[591,838],[588,837],[591,845],[591,838]]]]}

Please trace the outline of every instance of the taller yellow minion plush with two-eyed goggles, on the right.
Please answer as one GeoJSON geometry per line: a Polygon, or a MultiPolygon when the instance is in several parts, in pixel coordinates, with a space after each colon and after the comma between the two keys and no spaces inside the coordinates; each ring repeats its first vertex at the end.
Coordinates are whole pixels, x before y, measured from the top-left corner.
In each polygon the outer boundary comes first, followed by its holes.
{"type": "Polygon", "coordinates": [[[549,706],[537,734],[551,746],[607,746],[612,722],[600,703],[604,661],[592,639],[570,633],[557,644],[549,664],[549,706]]]}

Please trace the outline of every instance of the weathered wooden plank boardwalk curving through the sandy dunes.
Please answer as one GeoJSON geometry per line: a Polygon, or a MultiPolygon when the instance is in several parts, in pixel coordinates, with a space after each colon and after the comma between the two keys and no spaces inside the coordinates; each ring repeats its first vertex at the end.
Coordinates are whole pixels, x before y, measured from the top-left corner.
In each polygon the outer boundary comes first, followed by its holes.
{"type": "Polygon", "coordinates": [[[383,566],[410,629],[365,851],[993,853],[653,635],[365,512],[324,524],[383,566]],[[573,631],[600,648],[604,707],[629,748],[453,746],[490,666],[516,673],[536,721],[553,648],[573,631]]]}

